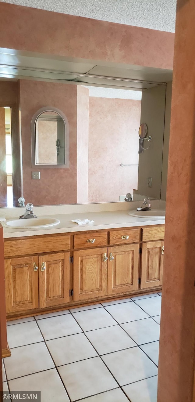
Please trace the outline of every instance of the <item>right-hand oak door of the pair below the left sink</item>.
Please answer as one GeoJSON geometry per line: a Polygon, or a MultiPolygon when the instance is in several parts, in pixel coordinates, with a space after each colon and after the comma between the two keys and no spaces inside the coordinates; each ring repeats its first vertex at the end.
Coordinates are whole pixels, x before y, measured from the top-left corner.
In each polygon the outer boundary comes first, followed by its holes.
{"type": "Polygon", "coordinates": [[[39,308],[69,302],[69,252],[39,256],[39,308]]]}

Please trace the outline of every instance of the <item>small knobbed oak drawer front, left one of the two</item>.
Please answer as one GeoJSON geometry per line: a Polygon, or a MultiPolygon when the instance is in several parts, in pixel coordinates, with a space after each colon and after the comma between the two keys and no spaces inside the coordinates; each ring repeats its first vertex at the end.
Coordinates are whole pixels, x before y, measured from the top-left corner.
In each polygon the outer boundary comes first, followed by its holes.
{"type": "Polygon", "coordinates": [[[107,232],[88,233],[74,235],[74,248],[91,248],[97,246],[106,246],[107,232]]]}

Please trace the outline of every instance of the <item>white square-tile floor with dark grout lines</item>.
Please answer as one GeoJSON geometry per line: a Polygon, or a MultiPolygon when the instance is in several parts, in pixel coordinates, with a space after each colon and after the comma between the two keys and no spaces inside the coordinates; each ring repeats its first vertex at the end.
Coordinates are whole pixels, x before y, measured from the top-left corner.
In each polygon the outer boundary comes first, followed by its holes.
{"type": "Polygon", "coordinates": [[[160,306],[153,293],[8,322],[3,390],[41,390],[41,402],[156,402],[160,306]]]}

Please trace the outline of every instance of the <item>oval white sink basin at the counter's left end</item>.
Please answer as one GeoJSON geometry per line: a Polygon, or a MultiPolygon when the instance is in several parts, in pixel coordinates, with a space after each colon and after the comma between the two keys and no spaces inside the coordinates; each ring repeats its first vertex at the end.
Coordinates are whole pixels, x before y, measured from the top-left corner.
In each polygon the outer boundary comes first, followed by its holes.
{"type": "Polygon", "coordinates": [[[26,218],[26,219],[8,219],[2,222],[6,228],[26,228],[26,229],[40,229],[49,228],[58,225],[59,219],[55,218],[26,218]]]}

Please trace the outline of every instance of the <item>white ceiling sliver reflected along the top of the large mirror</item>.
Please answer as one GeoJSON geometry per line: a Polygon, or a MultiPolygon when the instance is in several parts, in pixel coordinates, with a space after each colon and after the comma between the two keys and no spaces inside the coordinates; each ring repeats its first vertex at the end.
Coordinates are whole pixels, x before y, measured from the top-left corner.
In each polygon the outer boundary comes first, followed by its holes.
{"type": "Polygon", "coordinates": [[[89,89],[89,96],[95,96],[98,98],[115,98],[115,99],[134,99],[141,100],[142,92],[130,91],[126,89],[115,88],[102,88],[100,86],[86,86],[89,89]]]}

